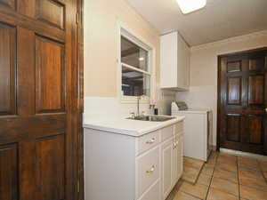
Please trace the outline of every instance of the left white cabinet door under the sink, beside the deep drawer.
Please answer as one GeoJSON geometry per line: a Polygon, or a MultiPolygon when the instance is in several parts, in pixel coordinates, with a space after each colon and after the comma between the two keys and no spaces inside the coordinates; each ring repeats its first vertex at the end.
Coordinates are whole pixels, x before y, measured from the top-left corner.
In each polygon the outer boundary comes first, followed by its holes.
{"type": "Polygon", "coordinates": [[[162,144],[162,194],[163,199],[171,192],[174,177],[174,139],[162,144]]]}

